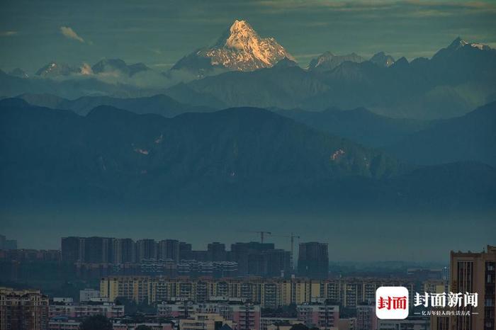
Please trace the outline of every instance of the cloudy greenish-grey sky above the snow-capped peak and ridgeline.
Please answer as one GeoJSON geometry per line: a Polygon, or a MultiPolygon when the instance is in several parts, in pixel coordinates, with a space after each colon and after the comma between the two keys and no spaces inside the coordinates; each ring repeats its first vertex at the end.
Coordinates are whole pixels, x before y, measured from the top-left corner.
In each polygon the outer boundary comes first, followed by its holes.
{"type": "Polygon", "coordinates": [[[235,19],[273,36],[306,66],[330,50],[430,57],[460,35],[496,47],[494,1],[2,0],[0,68],[103,57],[168,69],[235,19]]]}

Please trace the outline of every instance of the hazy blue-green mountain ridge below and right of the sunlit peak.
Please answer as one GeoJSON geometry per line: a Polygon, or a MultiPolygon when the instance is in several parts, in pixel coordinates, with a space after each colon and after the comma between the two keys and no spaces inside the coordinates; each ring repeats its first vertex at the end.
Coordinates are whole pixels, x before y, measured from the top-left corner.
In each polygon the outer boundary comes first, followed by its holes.
{"type": "Polygon", "coordinates": [[[227,72],[186,85],[226,106],[368,108],[415,119],[463,115],[496,97],[496,52],[490,48],[467,44],[440,50],[432,59],[401,57],[392,64],[388,59],[384,55],[382,64],[344,61],[320,72],[298,67],[227,72]]]}

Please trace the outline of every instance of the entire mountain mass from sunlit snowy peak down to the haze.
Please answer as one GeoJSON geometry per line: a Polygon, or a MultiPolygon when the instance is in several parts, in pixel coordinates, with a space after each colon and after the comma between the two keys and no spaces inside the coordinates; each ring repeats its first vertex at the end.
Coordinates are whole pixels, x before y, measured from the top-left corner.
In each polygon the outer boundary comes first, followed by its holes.
{"type": "Polygon", "coordinates": [[[494,207],[496,51],[461,38],[303,68],[235,21],[168,72],[52,62],[0,96],[1,205],[494,207]]]}

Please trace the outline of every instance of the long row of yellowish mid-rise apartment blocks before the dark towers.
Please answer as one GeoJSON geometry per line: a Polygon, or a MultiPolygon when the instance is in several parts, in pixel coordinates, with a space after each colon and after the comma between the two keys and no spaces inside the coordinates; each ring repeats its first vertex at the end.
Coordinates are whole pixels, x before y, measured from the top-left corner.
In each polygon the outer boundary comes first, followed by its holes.
{"type": "Polygon", "coordinates": [[[276,308],[304,304],[313,300],[331,300],[344,307],[356,307],[376,300],[381,286],[405,286],[410,291],[410,305],[415,283],[398,279],[310,280],[308,278],[166,278],[162,276],[108,276],[101,278],[100,295],[109,301],[125,297],[136,302],[188,300],[208,302],[218,298],[239,298],[262,307],[276,308]]]}

